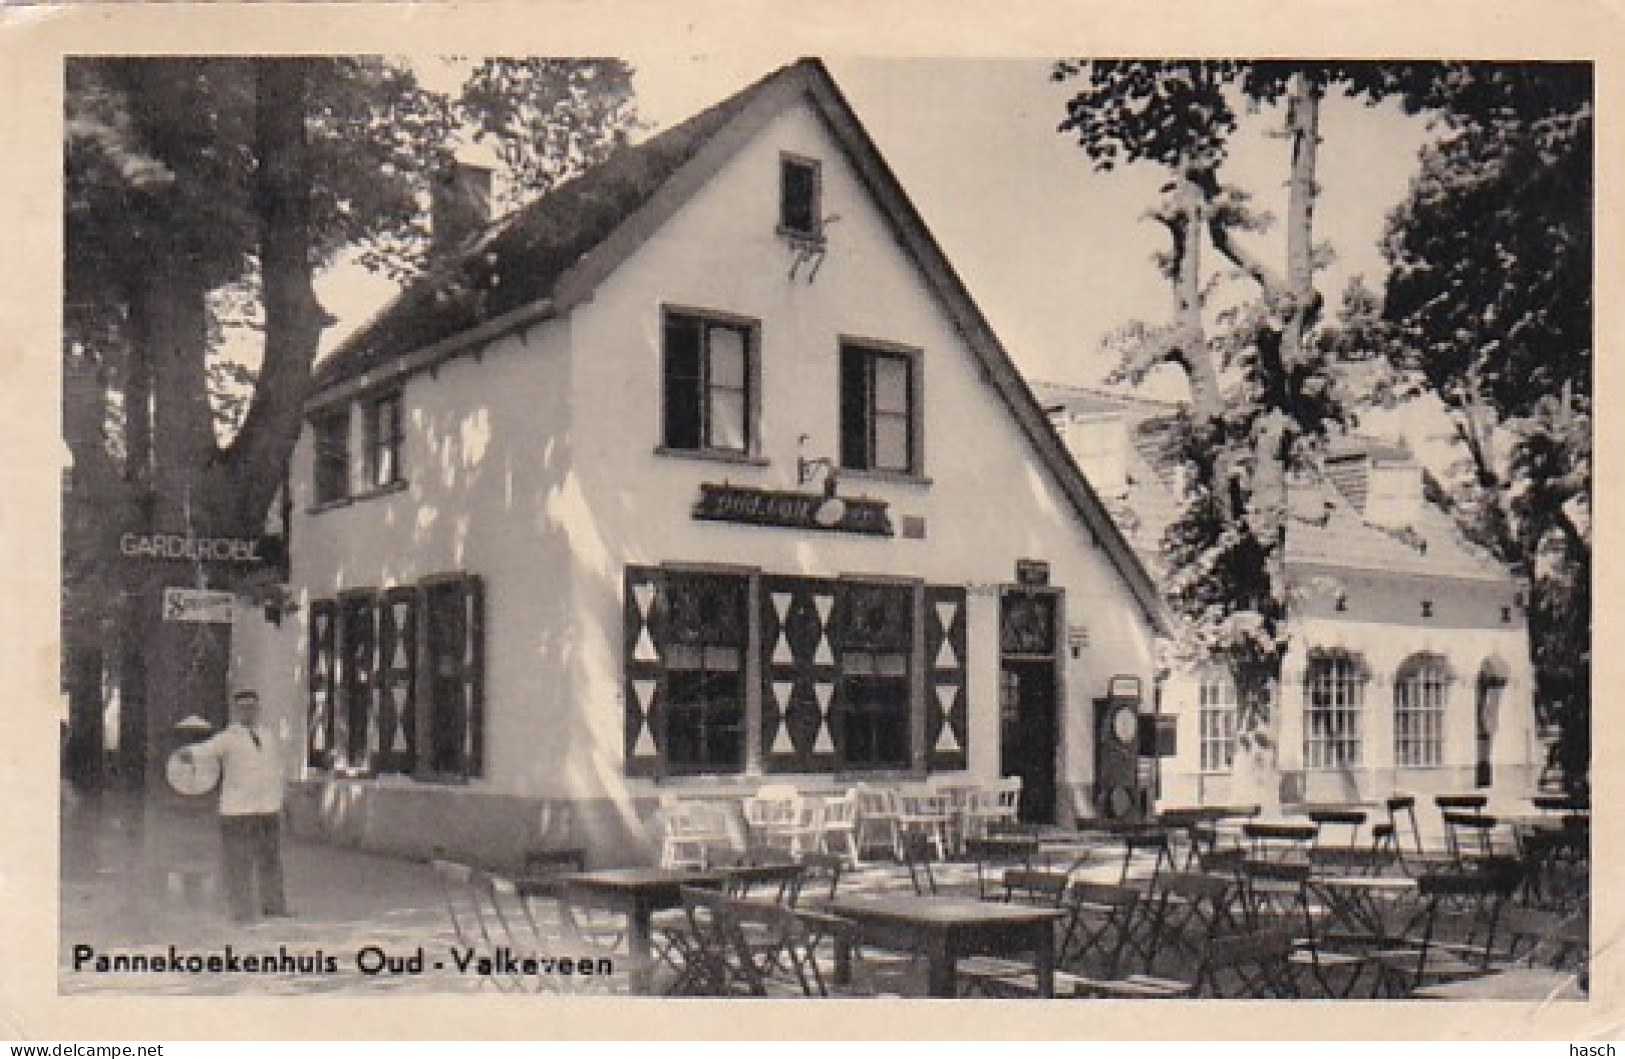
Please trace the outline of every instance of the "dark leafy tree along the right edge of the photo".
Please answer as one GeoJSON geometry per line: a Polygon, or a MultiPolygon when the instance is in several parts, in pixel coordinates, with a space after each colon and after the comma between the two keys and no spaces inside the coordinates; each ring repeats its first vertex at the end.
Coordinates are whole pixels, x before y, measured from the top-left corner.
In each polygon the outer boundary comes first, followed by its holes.
{"type": "Polygon", "coordinates": [[[1531,578],[1537,708],[1565,778],[1591,729],[1592,80],[1589,63],[1462,63],[1417,93],[1438,114],[1383,244],[1362,328],[1451,414],[1462,526],[1531,578]]]}

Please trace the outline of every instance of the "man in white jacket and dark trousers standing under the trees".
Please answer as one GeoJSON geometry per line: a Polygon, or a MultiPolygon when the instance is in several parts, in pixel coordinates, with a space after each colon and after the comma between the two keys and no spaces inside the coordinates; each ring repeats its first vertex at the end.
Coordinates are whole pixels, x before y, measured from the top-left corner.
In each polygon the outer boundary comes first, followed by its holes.
{"type": "Polygon", "coordinates": [[[219,830],[226,900],[237,923],[255,913],[286,916],[283,897],[283,755],[275,733],[260,728],[260,695],[231,697],[226,731],[187,747],[182,760],[219,762],[219,830]],[[258,882],[258,906],[254,901],[258,882]]]}

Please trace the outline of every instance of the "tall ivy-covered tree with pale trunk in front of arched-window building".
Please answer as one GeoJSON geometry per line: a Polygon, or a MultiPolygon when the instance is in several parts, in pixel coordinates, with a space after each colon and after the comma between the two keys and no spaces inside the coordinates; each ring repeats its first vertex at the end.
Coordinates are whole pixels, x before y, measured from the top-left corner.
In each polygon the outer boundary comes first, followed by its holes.
{"type": "Polygon", "coordinates": [[[1339,416],[1331,365],[1310,341],[1323,299],[1315,287],[1315,200],[1321,99],[1331,89],[1375,99],[1383,70],[1360,63],[1061,62],[1056,78],[1082,78],[1061,132],[1077,136],[1097,169],[1154,164],[1168,172],[1155,218],[1170,252],[1172,326],[1139,328],[1131,375],[1159,364],[1190,382],[1190,414],[1176,434],[1190,468],[1185,507],[1165,539],[1167,591],[1190,619],[1194,650],[1222,658],[1237,685],[1238,796],[1277,804],[1280,671],[1287,625],[1287,487],[1339,416]],[[1284,245],[1254,245],[1266,223],[1224,182],[1237,107],[1282,104],[1290,145],[1284,245]],[[1212,247],[1253,299],[1209,333],[1212,247]]]}

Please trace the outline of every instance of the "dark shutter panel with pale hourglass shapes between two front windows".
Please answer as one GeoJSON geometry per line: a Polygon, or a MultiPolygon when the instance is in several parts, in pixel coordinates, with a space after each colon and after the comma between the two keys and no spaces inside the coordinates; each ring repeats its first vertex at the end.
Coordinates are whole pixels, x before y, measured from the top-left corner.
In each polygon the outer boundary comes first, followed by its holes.
{"type": "Polygon", "coordinates": [[[762,577],[762,768],[834,772],[835,581],[762,577]]]}

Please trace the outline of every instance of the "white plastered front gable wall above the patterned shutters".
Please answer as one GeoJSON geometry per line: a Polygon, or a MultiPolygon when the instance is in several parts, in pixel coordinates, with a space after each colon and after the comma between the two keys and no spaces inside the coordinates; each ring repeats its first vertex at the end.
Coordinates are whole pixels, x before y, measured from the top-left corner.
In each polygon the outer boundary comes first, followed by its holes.
{"type": "MultiPolygon", "coordinates": [[[[804,270],[803,270],[804,271],[804,270]]],[[[1149,685],[1150,638],[1105,554],[944,317],[855,172],[819,119],[786,112],[734,156],[574,318],[572,400],[577,466],[595,546],[577,567],[583,705],[606,757],[621,747],[621,562],[734,562],[783,573],[886,573],[933,583],[994,585],[1014,578],[1016,559],[1045,559],[1068,590],[1074,624],[1090,646],[1068,663],[1068,778],[1092,763],[1089,700],[1113,672],[1149,685]],[[775,234],[780,151],[822,161],[824,213],[840,214],[816,283],[788,279],[786,245],[775,234]],[[660,443],[661,305],[715,309],[760,322],[760,455],[765,466],[656,455],[660,443]],[[900,343],[921,351],[923,473],[900,482],[842,476],[843,495],[881,497],[894,526],[926,520],[926,539],[814,534],[702,523],[691,518],[700,482],[796,487],[804,455],[837,455],[838,339],[900,343]],[[592,409],[592,411],[588,411],[592,409]],[[613,749],[613,750],[611,750],[613,749]]],[[[996,596],[994,596],[996,599],[996,596]]],[[[996,715],[996,614],[972,607],[972,765],[998,770],[986,716],[996,715]],[[980,617],[978,617],[980,614],[980,617]]],[[[1064,637],[1063,637],[1064,640],[1064,637]]],[[[996,729],[993,729],[996,733],[996,729]]]]}

